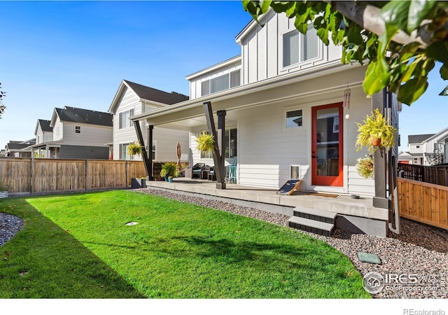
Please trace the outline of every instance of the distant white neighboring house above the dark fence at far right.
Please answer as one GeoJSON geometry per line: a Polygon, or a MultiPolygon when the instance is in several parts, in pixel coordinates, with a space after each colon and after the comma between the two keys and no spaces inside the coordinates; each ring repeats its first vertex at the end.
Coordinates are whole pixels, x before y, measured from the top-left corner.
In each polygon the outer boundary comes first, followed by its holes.
{"type": "Polygon", "coordinates": [[[435,153],[443,155],[442,163],[447,163],[448,128],[437,134],[413,134],[407,137],[409,151],[401,151],[398,161],[414,165],[431,165],[435,153]]]}

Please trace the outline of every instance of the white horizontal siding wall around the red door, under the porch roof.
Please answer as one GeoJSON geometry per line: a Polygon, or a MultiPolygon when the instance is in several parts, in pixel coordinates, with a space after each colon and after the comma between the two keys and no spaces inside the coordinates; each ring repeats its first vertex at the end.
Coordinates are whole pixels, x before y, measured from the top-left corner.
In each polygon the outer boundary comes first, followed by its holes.
{"type": "MultiPolygon", "coordinates": [[[[321,78],[314,86],[323,85],[321,78]]],[[[292,88],[292,87],[291,87],[292,88]]],[[[245,186],[279,188],[290,179],[291,165],[300,165],[304,190],[373,195],[373,179],[356,173],[356,161],[366,151],[356,152],[356,122],[371,112],[370,99],[361,87],[351,90],[351,107],[344,109],[344,186],[311,185],[311,107],[342,102],[342,92],[319,94],[283,104],[269,104],[239,111],[238,183],[245,186]],[[302,127],[286,128],[286,111],[301,109],[302,127]]]]}

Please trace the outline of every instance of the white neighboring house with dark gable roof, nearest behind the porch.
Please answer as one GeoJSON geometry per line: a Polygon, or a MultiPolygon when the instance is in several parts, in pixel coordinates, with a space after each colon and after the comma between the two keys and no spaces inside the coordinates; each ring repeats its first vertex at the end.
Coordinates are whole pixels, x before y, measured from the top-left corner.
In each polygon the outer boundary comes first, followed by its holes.
{"type": "MultiPolygon", "coordinates": [[[[155,109],[186,101],[188,96],[176,92],[164,92],[161,90],[123,80],[118,87],[109,113],[113,114],[113,160],[141,160],[141,156],[130,156],[127,147],[132,142],[137,142],[137,134],[131,116],[141,115],[155,109]]],[[[146,123],[141,122],[141,130],[148,145],[148,132],[146,123]]],[[[153,160],[160,162],[176,162],[176,144],[181,144],[183,162],[188,162],[189,133],[183,130],[153,130],[153,160]]],[[[146,151],[149,146],[146,147],[146,151]]]]}

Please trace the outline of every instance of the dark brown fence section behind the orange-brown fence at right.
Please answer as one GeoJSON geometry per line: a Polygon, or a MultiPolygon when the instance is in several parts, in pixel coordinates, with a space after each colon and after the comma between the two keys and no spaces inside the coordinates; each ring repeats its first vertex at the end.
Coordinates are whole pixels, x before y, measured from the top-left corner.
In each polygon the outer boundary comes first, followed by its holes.
{"type": "Polygon", "coordinates": [[[428,166],[398,163],[398,174],[404,179],[448,186],[447,165],[428,166]]]}

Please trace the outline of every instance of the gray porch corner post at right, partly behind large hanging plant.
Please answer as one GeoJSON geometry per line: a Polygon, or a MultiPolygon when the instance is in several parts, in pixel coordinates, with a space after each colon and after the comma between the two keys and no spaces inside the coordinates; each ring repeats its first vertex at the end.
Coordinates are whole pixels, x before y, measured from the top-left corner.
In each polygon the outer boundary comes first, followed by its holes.
{"type": "MultiPolygon", "coordinates": [[[[372,95],[372,111],[379,109],[384,114],[386,108],[386,90],[383,89],[372,95]]],[[[373,197],[373,207],[388,209],[388,196],[386,191],[387,174],[386,174],[386,153],[379,150],[374,152],[374,183],[375,195],[373,197]]]]}

